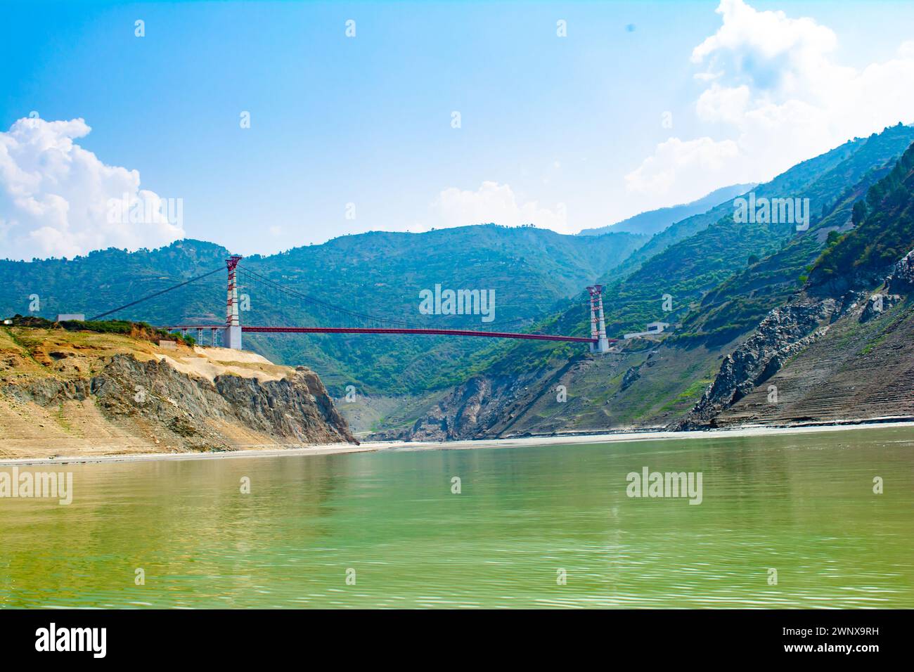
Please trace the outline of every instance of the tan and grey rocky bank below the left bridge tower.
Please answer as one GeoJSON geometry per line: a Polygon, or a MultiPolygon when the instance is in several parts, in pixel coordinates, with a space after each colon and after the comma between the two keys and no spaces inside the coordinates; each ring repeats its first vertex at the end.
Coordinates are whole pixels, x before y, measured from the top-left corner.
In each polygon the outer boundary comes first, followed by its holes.
{"type": "Polygon", "coordinates": [[[317,375],[224,348],[14,328],[0,336],[0,455],[356,443],[317,375]]]}

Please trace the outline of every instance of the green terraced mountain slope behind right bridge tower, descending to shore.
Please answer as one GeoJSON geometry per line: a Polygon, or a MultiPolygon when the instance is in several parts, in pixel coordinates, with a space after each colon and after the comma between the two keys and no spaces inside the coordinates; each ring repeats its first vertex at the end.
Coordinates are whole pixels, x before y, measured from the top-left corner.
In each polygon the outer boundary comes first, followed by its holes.
{"type": "MultiPolygon", "coordinates": [[[[405,413],[388,414],[388,435],[481,438],[663,428],[681,419],[717,378],[725,357],[766,315],[796,293],[807,276],[824,273],[811,274],[808,268],[834,240],[857,240],[868,249],[861,241],[872,239],[872,232],[839,237],[855,226],[855,208],[856,219],[861,217],[856,202],[895,170],[898,156],[912,142],[914,129],[887,128],[756,187],[760,198],[809,198],[808,229],[797,230],[795,223],[740,223],[733,204],[727,204],[658,234],[665,239],[657,245],[661,251],[621,278],[607,278],[604,305],[610,336],[654,320],[674,325],[669,336],[625,341],[618,353],[598,357],[567,345],[503,344],[460,386],[410,409],[420,411],[412,424],[405,413]],[[664,311],[664,294],[672,302],[670,311],[664,311]],[[566,390],[563,401],[559,386],[566,390]]],[[[632,256],[642,256],[657,238],[632,256]]],[[[905,244],[887,241],[886,254],[881,247],[873,254],[885,259],[905,244]]],[[[623,263],[614,274],[629,265],[623,263]]],[[[550,318],[549,328],[585,333],[582,300],[576,297],[550,318]]]]}

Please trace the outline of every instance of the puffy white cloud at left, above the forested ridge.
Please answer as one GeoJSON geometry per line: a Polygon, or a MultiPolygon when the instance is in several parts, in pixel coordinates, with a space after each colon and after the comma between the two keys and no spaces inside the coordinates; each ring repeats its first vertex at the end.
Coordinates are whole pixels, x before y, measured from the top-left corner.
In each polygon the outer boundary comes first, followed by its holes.
{"type": "Polygon", "coordinates": [[[139,172],[105,165],[73,142],[90,130],[82,119],[24,118],[0,133],[0,256],[73,257],[184,236],[180,218],[169,218],[165,202],[140,188],[139,172]],[[142,218],[112,217],[112,201],[125,197],[142,218]]]}

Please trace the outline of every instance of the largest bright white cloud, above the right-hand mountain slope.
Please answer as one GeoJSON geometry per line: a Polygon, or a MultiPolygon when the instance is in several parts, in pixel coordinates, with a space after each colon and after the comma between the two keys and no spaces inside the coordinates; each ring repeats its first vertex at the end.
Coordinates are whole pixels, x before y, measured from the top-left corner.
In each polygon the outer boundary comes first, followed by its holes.
{"type": "Polygon", "coordinates": [[[722,25],[692,52],[699,122],[720,137],[671,138],[625,178],[652,207],[736,182],[766,181],[853,137],[914,120],[914,42],[885,62],[836,63],[838,38],[813,18],[722,0],[722,25]],[[707,155],[702,159],[700,155],[707,155]],[[696,166],[713,165],[696,174],[696,166]]]}

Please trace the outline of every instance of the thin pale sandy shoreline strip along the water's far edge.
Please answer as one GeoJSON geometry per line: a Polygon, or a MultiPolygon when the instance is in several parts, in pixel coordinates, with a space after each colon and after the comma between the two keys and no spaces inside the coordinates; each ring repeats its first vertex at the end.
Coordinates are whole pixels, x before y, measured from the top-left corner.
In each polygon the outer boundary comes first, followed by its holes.
{"type": "Polygon", "coordinates": [[[473,439],[463,441],[404,442],[377,441],[359,445],[352,443],[328,443],[324,445],[300,446],[294,448],[245,448],[237,451],[218,453],[124,453],[113,455],[58,455],[56,457],[20,457],[0,459],[0,467],[35,466],[41,464],[105,464],[128,462],[154,462],[158,460],[213,460],[230,458],[295,457],[306,455],[332,455],[345,453],[377,453],[379,451],[427,451],[427,450],[473,450],[474,448],[520,448],[525,446],[574,445],[581,443],[635,443],[647,441],[670,441],[696,438],[725,438],[777,436],[780,434],[808,434],[817,432],[845,432],[875,428],[912,427],[914,421],[874,418],[867,421],[838,421],[831,424],[797,425],[771,427],[747,425],[733,429],[697,430],[691,432],[612,432],[597,434],[568,434],[549,436],[525,436],[513,439],[473,439]]]}

